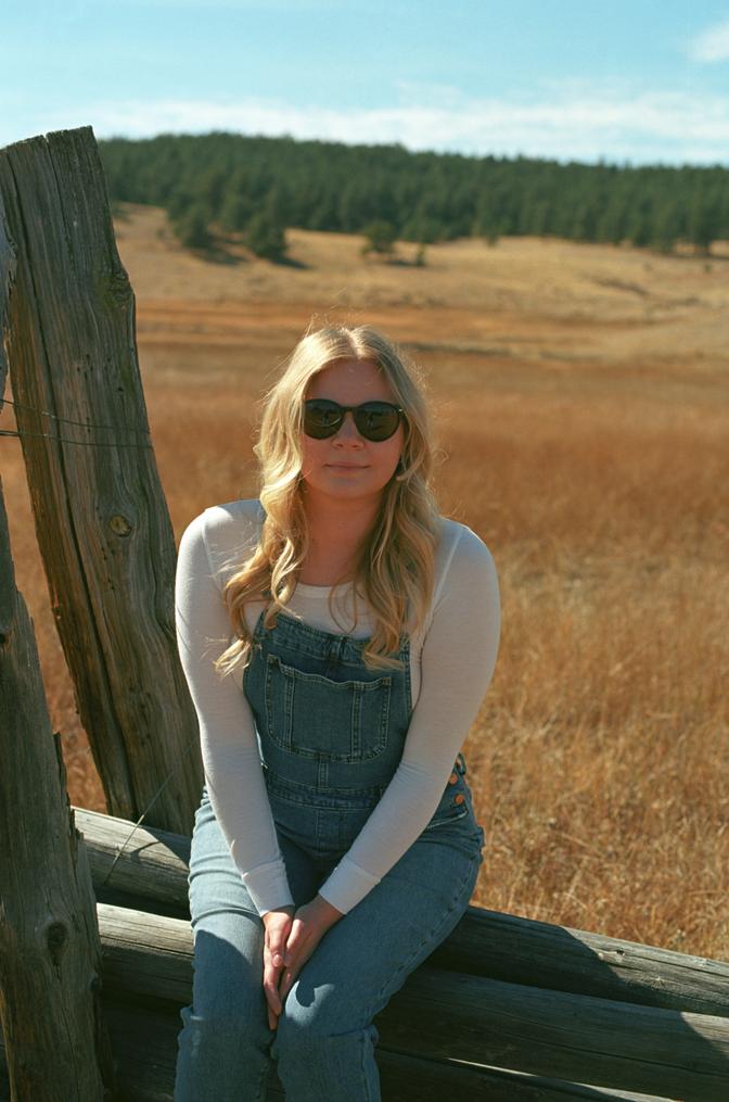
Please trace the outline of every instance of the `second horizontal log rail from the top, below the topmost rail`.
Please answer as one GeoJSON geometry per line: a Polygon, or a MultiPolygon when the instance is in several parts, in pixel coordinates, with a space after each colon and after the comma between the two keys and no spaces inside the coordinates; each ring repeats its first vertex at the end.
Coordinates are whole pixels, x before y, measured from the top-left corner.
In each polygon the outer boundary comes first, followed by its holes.
{"type": "MultiPolygon", "coordinates": [[[[182,919],[99,904],[108,993],[192,1001],[192,937],[182,919]]],[[[667,1098],[729,1095],[729,1020],[504,983],[435,968],[409,977],[376,1025],[381,1044],[423,1060],[461,1060],[667,1098]]]]}

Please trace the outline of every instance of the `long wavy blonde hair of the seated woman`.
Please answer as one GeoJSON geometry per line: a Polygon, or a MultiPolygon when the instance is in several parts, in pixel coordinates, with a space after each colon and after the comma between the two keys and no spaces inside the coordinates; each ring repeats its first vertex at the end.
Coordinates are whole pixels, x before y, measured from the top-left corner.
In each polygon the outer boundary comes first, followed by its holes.
{"type": "MultiPolygon", "coordinates": [[[[333,325],[309,331],[264,398],[258,443],[260,500],[265,510],[258,547],[233,573],[224,599],[237,636],[215,662],[229,673],[248,663],[251,633],[246,604],[268,599],[264,625],[286,607],[309,545],[301,488],[303,406],[312,378],[340,359],[370,360],[387,378],[405,411],[399,473],[382,491],[381,507],[355,565],[355,588],[370,607],[374,630],[362,650],[370,668],[396,668],[391,652],[401,636],[422,627],[434,583],[439,512],[432,489],[434,465],[431,414],[418,369],[369,325],[333,325]]],[[[329,596],[331,601],[331,594],[329,596]]]]}

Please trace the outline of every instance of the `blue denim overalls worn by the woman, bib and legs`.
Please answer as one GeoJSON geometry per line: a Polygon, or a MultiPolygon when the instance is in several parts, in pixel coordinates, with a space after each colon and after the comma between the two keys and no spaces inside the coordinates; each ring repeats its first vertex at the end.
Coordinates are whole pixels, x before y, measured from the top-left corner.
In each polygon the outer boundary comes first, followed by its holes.
{"type": "MultiPolygon", "coordinates": [[[[363,640],[280,614],[255,628],[243,691],[295,906],[344,856],[402,757],[411,716],[400,670],[368,670],[363,640]]],[[[287,1102],[378,1102],[372,1019],[453,931],[482,862],[458,755],[428,824],[303,966],[279,1027],[268,1025],[263,921],[232,862],[207,789],[189,861],[193,1004],[181,1011],[175,1102],[263,1102],[271,1059],[287,1102]],[[456,799],[461,797],[463,799],[456,799]]]]}

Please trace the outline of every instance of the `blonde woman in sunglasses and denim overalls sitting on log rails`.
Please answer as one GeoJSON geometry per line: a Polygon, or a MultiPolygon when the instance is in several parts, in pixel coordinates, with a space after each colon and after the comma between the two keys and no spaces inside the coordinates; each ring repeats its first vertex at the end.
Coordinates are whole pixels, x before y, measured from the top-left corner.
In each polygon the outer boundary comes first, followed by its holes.
{"type": "Polygon", "coordinates": [[[439,516],[415,369],[369,326],[303,337],[255,452],[260,501],[206,509],[179,545],[206,784],[175,1099],[263,1100],[271,1058],[290,1102],[379,1099],[372,1018],[482,861],[460,747],[496,571],[439,516]]]}

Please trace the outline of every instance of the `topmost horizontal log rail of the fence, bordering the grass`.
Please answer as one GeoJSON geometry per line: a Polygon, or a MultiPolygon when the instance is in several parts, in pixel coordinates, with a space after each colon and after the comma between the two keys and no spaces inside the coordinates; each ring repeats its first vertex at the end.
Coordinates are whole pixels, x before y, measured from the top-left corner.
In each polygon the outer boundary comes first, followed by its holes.
{"type": "MultiPolygon", "coordinates": [[[[74,810],[97,899],[189,918],[189,839],[74,810]]],[[[479,907],[468,908],[431,962],[533,987],[729,1018],[727,963],[479,907]]]]}

